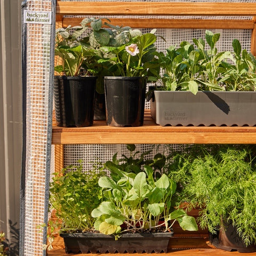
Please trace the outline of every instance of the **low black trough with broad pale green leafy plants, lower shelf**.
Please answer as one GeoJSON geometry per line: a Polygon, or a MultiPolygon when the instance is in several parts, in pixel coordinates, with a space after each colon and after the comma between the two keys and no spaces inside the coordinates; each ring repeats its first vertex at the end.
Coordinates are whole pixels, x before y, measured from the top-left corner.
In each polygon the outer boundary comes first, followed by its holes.
{"type": "Polygon", "coordinates": [[[148,151],[136,158],[135,146],[127,145],[127,148],[131,156],[118,161],[115,154],[113,161],[105,165],[110,177],[99,179],[103,199],[92,211],[96,231],[93,234],[61,234],[67,253],[166,252],[175,220],[183,229],[197,230],[194,217],[174,209],[176,183],[165,174],[154,178],[154,170],[162,165],[159,164],[161,157],[148,161],[154,169],[145,165],[142,171],[148,151]],[[78,248],[73,246],[74,241],[79,241],[78,248]]]}

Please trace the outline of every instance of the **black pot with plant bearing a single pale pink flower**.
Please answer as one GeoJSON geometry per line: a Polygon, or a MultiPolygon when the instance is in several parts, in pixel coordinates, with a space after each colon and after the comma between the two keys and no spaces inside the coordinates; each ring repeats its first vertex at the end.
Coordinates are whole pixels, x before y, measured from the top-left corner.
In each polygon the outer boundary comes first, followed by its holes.
{"type": "Polygon", "coordinates": [[[137,30],[129,30],[125,34],[128,42],[101,47],[107,54],[102,62],[109,66],[108,71],[111,73],[104,79],[107,124],[141,126],[148,77],[159,69],[154,62],[157,37],[154,31],[141,35],[137,30]]]}

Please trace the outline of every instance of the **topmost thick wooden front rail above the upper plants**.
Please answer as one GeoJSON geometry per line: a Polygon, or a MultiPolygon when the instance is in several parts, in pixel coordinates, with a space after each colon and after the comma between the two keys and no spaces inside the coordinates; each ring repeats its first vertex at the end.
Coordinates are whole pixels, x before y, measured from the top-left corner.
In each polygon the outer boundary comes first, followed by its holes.
{"type": "Polygon", "coordinates": [[[256,3],[62,2],[61,15],[256,15],[256,3]]]}

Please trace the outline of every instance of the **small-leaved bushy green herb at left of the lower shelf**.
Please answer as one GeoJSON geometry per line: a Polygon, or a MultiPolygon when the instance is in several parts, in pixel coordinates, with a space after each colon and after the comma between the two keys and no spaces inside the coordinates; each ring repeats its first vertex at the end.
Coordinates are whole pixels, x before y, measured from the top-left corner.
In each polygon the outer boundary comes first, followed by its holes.
{"type": "Polygon", "coordinates": [[[84,173],[82,167],[81,160],[77,166],[67,166],[62,175],[54,173],[50,183],[50,207],[61,220],[62,230],[83,232],[91,229],[94,225],[91,212],[101,203],[98,180],[106,172],[94,166],[90,173],[84,173]]]}

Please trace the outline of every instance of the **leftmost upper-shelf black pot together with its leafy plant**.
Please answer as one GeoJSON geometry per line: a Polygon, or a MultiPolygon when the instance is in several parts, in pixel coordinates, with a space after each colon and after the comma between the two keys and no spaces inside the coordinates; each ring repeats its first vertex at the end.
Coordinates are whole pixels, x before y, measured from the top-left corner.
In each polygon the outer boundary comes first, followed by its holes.
{"type": "MultiPolygon", "coordinates": [[[[61,65],[58,60],[55,71],[61,76],[55,77],[54,103],[59,126],[93,124],[95,86],[102,69],[97,62],[102,58],[102,53],[93,47],[93,39],[97,38],[97,42],[105,45],[102,37],[107,32],[101,31],[101,24],[101,19],[87,18],[81,22],[81,26],[68,26],[56,31],[55,55],[61,60],[61,65]],[[93,28],[90,33],[92,45],[89,36],[82,37],[89,25],[93,28]]],[[[97,89],[100,91],[100,85],[97,89]]]]}

